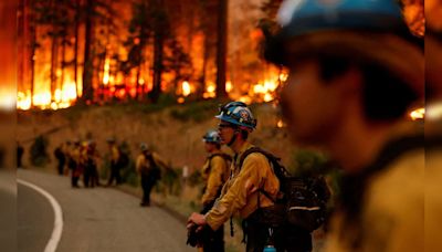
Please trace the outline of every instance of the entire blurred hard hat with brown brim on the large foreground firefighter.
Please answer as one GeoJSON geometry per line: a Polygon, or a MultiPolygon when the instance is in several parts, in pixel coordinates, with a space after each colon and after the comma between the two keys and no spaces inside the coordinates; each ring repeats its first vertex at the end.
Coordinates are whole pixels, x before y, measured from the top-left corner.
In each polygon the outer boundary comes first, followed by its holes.
{"type": "Polygon", "coordinates": [[[264,56],[278,65],[320,55],[385,67],[423,94],[423,40],[413,36],[394,0],[285,0],[281,30],[264,56]]]}

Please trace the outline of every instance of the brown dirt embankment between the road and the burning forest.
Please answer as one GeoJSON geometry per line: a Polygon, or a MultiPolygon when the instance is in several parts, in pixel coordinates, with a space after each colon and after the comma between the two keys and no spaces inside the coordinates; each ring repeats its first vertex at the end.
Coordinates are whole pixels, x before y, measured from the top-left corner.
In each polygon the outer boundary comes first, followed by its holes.
{"type": "MultiPolygon", "coordinates": [[[[257,118],[257,129],[251,134],[250,140],[288,164],[292,146],[284,129],[276,127],[277,109],[269,104],[256,105],[252,109],[257,118]]],[[[101,154],[105,154],[106,139],[115,137],[118,143],[129,145],[133,158],[138,154],[139,144],[145,141],[173,167],[188,166],[193,170],[203,162],[206,154],[201,137],[208,129],[217,127],[215,114],[217,107],[208,104],[161,109],[126,105],[20,112],[17,136],[25,149],[24,166],[29,166],[29,149],[33,139],[43,134],[49,139],[48,153],[52,160],[54,148],[63,141],[92,137],[101,154]]]]}

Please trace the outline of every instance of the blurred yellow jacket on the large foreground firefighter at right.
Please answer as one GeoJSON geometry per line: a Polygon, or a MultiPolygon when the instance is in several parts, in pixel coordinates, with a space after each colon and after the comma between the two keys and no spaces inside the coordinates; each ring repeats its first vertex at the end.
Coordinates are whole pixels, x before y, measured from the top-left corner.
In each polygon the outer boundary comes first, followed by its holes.
{"type": "MultiPolygon", "coordinates": [[[[424,162],[424,150],[413,150],[368,181],[361,227],[355,227],[362,234],[358,251],[427,251],[423,248],[424,162]]],[[[341,235],[345,218],[343,212],[335,213],[325,251],[354,251],[348,240],[355,232],[344,230],[341,235]]],[[[431,232],[439,233],[439,228],[431,232]]]]}

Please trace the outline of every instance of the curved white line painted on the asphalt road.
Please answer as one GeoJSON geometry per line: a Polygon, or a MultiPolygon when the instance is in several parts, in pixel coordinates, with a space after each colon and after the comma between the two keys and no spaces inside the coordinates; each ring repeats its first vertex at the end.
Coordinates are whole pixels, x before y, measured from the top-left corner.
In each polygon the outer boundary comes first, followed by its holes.
{"type": "Polygon", "coordinates": [[[17,181],[23,186],[27,186],[29,188],[34,189],[35,191],[40,192],[52,206],[52,209],[54,210],[54,229],[52,230],[51,239],[49,240],[46,248],[44,248],[44,252],[54,252],[56,250],[56,246],[59,245],[60,239],[62,238],[62,232],[63,232],[63,214],[62,214],[62,208],[60,207],[59,202],[55,200],[54,197],[52,197],[48,191],[44,189],[27,182],[22,179],[17,179],[17,181]]]}

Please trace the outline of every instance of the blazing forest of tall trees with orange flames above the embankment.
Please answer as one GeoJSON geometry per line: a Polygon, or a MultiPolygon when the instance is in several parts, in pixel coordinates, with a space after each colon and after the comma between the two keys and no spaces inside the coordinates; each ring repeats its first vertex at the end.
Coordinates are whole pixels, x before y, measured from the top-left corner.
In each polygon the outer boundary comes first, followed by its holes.
{"type": "Polygon", "coordinates": [[[280,74],[256,50],[262,0],[223,3],[227,9],[218,0],[22,0],[19,39],[28,60],[18,107],[55,109],[78,97],[85,104],[141,101],[146,94],[156,102],[162,92],[181,102],[224,91],[244,102],[273,99],[280,74]],[[217,48],[225,46],[219,41],[227,34],[231,46],[222,53],[217,48]]]}

